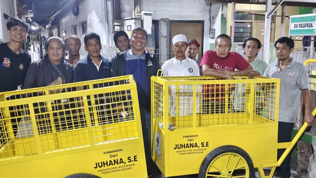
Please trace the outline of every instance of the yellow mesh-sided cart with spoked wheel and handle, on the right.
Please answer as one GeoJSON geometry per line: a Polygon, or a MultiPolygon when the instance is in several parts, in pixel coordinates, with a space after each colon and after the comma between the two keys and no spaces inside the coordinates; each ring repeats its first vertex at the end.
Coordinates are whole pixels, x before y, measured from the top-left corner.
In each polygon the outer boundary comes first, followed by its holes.
{"type": "Polygon", "coordinates": [[[279,87],[279,79],[258,76],[153,76],[152,159],[166,177],[252,178],[258,168],[261,178],[272,178],[307,127],[277,143],[279,87]]]}

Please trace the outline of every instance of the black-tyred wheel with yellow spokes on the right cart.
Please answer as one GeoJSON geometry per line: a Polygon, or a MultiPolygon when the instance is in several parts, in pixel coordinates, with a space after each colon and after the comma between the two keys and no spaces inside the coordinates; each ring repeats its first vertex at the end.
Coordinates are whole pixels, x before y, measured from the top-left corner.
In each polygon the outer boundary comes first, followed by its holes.
{"type": "Polygon", "coordinates": [[[204,158],[198,178],[254,178],[250,156],[243,149],[226,145],[212,150],[204,158]]]}

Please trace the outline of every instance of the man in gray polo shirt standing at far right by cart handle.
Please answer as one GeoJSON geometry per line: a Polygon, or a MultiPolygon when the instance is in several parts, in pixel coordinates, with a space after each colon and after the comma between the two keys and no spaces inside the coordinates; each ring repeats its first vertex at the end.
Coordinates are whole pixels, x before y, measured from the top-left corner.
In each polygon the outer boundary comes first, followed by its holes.
{"type": "MultiPolygon", "coordinates": [[[[301,94],[305,105],[304,121],[311,125],[314,117],[310,111],[311,96],[308,90],[306,69],[303,64],[290,58],[294,41],[288,37],[281,37],[274,43],[274,46],[278,61],[270,63],[263,76],[280,79],[278,143],[283,143],[291,141],[301,94]]],[[[249,78],[253,78],[255,75],[260,74],[258,71],[253,71],[249,73],[249,78]]],[[[285,149],[277,150],[277,159],[282,156],[284,151],[285,149]]],[[[290,178],[290,163],[291,154],[288,154],[281,166],[276,168],[276,176],[290,178]]]]}

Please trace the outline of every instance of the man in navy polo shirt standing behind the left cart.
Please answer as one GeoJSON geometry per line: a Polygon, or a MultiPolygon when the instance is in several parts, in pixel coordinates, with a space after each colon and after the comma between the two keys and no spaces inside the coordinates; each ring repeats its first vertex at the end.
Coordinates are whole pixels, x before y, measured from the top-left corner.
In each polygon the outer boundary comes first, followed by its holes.
{"type": "MultiPolygon", "coordinates": [[[[74,82],[82,82],[96,79],[105,79],[111,77],[112,63],[100,55],[101,40],[96,33],[87,34],[84,37],[84,49],[88,52],[86,58],[79,60],[74,69],[74,82]]],[[[106,87],[109,83],[100,83],[93,85],[93,88],[106,87]]],[[[78,90],[88,89],[89,86],[78,87],[78,90]]],[[[82,98],[80,98],[82,100],[82,98]]],[[[98,118],[99,124],[112,123],[109,93],[94,95],[94,99],[88,98],[88,105],[96,105],[97,116],[90,111],[91,119],[98,118]]],[[[78,103],[79,106],[82,103],[78,103]]],[[[89,107],[91,110],[92,107],[89,107]]],[[[92,120],[93,121],[93,120],[92,120]]],[[[96,124],[92,122],[93,124],[96,124]]]]}

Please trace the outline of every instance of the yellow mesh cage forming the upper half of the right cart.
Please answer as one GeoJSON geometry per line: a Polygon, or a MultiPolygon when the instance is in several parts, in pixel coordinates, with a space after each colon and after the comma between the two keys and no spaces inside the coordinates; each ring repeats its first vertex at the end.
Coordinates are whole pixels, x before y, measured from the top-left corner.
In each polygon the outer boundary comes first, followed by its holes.
{"type": "Polygon", "coordinates": [[[152,116],[169,129],[274,123],[278,83],[265,77],[152,77],[152,116]]]}

